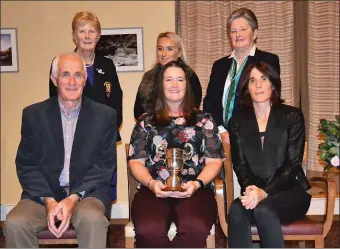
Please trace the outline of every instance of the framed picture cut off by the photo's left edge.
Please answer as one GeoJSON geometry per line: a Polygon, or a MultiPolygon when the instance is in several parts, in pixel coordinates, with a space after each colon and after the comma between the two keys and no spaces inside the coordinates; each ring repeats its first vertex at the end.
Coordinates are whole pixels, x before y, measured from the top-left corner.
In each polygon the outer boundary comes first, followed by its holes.
{"type": "Polygon", "coordinates": [[[1,72],[19,72],[17,29],[1,29],[1,72]]]}

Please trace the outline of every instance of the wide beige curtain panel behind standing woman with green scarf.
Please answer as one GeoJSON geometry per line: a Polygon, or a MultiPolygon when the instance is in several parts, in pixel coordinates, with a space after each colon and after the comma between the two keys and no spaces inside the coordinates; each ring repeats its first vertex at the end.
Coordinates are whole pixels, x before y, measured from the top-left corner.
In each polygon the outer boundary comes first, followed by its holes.
{"type": "Polygon", "coordinates": [[[293,88],[293,2],[292,1],[177,1],[177,31],[188,51],[189,65],[197,73],[205,96],[215,60],[231,53],[226,23],[238,8],[251,9],[259,24],[257,47],[280,58],[282,96],[297,105],[293,88]]]}

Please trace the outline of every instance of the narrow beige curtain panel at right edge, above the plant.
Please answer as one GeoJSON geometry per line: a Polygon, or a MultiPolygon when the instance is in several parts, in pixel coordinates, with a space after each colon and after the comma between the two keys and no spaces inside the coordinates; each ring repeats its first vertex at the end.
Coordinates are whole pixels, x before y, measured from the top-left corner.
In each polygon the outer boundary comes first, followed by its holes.
{"type": "Polygon", "coordinates": [[[339,1],[309,1],[308,20],[308,168],[323,170],[318,154],[321,118],[339,114],[339,1]]]}

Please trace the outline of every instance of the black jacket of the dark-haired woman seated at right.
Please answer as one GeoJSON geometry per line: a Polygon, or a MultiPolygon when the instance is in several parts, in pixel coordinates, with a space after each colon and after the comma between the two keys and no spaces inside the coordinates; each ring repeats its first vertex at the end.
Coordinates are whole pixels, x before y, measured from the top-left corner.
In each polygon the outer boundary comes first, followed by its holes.
{"type": "Polygon", "coordinates": [[[284,104],[272,107],[263,151],[253,108],[242,108],[234,113],[228,132],[233,168],[242,192],[249,185],[256,185],[268,194],[297,184],[305,190],[310,188],[301,167],[305,123],[300,109],[284,104]]]}

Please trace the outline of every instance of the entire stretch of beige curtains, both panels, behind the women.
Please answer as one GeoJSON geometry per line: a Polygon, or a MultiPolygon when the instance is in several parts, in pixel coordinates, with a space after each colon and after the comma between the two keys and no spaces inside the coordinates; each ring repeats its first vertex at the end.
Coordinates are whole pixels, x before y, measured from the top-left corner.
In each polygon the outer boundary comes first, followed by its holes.
{"type": "Polygon", "coordinates": [[[301,107],[306,121],[308,168],[323,170],[319,119],[339,114],[339,1],[176,1],[176,28],[200,78],[203,96],[212,64],[230,54],[229,14],[241,7],[259,22],[259,49],[280,57],[282,96],[301,107]]]}

